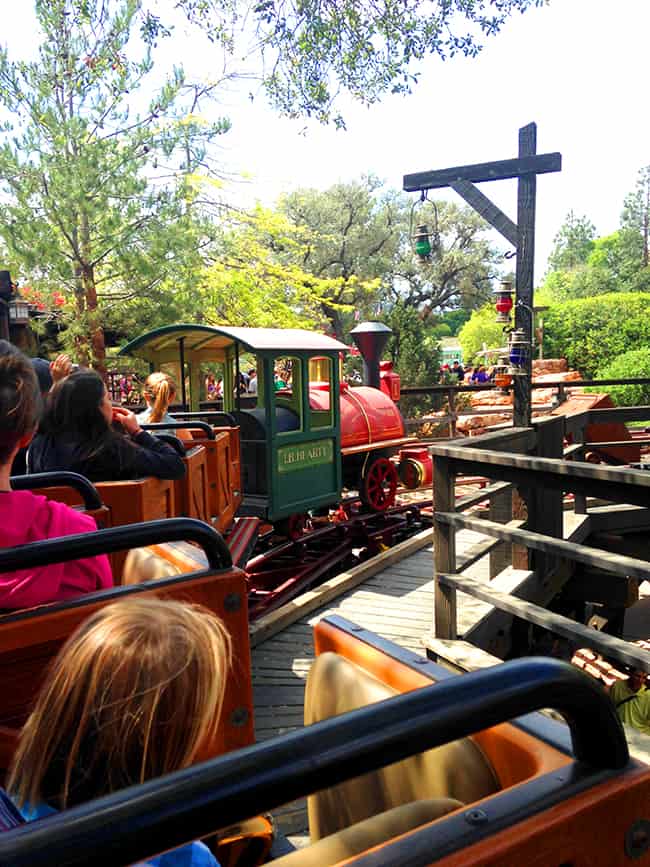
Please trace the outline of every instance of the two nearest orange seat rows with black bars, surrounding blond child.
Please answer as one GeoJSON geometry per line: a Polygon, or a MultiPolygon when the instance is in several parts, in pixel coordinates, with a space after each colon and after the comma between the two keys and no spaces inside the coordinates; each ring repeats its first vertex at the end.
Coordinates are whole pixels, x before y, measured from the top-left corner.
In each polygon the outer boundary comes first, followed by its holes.
{"type": "Polygon", "coordinates": [[[203,569],[0,615],[0,765],[62,642],[88,614],[134,594],[201,602],[233,636],[207,761],[6,831],[0,864],[126,867],[203,838],[222,867],[650,865],[650,767],[630,758],[608,696],[566,663],[452,675],[326,617],[314,627],[305,727],[255,744],[245,576],[207,524],[173,519],[34,543],[0,551],[0,569],[179,538],[204,548],[203,569]],[[311,844],[288,851],[265,814],[303,796],[311,844]]]}

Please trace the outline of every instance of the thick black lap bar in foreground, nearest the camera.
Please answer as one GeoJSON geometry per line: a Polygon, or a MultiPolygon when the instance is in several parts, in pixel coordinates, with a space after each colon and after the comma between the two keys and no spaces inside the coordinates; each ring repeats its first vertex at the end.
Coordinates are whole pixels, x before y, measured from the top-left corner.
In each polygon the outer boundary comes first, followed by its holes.
{"type": "Polygon", "coordinates": [[[576,759],[594,771],[627,764],[621,724],[600,687],[567,663],[533,657],[450,678],[2,834],[0,863],[145,861],[217,824],[549,707],[566,716],[576,759]]]}

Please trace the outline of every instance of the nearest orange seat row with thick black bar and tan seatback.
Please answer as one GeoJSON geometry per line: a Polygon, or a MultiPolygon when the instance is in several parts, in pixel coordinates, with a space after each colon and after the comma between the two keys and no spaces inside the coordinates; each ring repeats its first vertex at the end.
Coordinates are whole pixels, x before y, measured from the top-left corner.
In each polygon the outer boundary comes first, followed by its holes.
{"type": "Polygon", "coordinates": [[[650,864],[650,769],[582,672],[451,675],[341,617],[315,646],[304,729],[2,834],[0,863],[142,863],[307,795],[312,844],[278,867],[650,864]]]}

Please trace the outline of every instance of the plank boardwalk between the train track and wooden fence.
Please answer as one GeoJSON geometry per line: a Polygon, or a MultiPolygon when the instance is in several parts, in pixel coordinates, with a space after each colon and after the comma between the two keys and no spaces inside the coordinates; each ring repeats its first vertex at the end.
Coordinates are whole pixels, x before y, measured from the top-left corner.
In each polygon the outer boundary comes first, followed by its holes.
{"type": "MultiPolygon", "coordinates": [[[[485,537],[470,531],[457,536],[459,562],[462,554],[485,537]]],[[[481,577],[486,565],[468,570],[481,577]]],[[[252,650],[255,729],[258,740],[302,727],[305,680],[314,659],[312,627],[327,614],[341,614],[402,647],[423,652],[422,636],[433,618],[433,547],[411,554],[340,598],[287,626],[278,635],[252,650]]],[[[459,598],[459,609],[461,600],[459,598]]],[[[463,612],[478,612],[480,602],[463,597],[463,612]]],[[[473,618],[472,618],[473,619],[473,618]]],[[[276,819],[285,833],[306,827],[304,802],[280,811],[276,819]]]]}

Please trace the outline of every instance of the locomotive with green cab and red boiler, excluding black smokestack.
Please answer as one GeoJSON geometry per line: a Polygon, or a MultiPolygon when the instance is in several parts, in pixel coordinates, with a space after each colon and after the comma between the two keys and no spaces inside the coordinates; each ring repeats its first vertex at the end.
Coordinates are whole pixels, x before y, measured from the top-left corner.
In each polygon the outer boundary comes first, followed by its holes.
{"type": "MultiPolygon", "coordinates": [[[[334,505],[343,487],[359,491],[374,511],[394,503],[398,465],[391,458],[412,440],[389,388],[341,381],[347,350],[331,337],[298,329],[190,324],[143,334],[120,355],[143,359],[151,370],[174,371],[192,410],[180,419],[218,418],[239,428],[239,514],[277,522],[334,505]],[[223,371],[221,416],[199,412],[201,368],[215,362],[223,371]],[[250,368],[257,371],[257,395],[242,395],[236,383],[250,368]],[[277,370],[287,379],[281,388],[277,370]]],[[[384,377],[395,394],[394,378],[389,371],[384,377]]]]}

